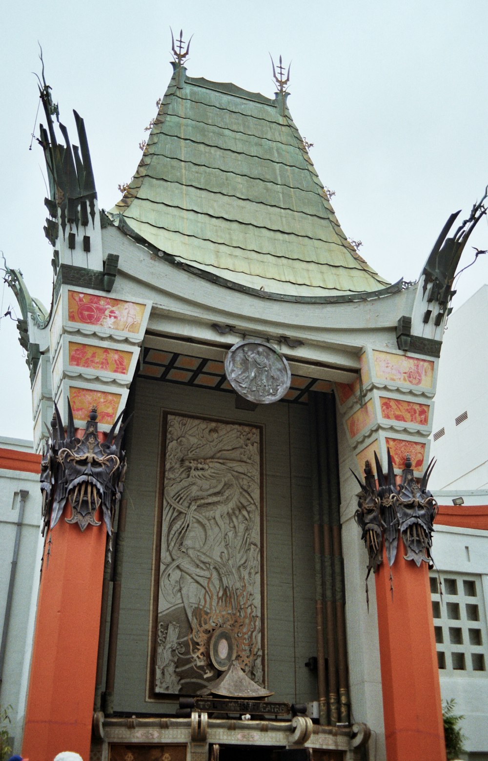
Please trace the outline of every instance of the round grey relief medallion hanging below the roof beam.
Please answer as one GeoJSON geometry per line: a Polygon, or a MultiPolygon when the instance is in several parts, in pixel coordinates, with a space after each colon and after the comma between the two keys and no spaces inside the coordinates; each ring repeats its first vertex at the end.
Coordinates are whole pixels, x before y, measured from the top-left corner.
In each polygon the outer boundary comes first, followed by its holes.
{"type": "Polygon", "coordinates": [[[233,389],[255,404],[277,402],[290,388],[287,360],[274,346],[257,338],[233,345],[225,373],[233,389]]]}

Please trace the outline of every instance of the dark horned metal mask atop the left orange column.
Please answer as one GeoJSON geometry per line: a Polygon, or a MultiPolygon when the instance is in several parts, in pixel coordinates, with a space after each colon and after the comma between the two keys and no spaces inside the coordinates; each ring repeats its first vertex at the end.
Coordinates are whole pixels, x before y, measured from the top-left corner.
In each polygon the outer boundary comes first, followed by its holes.
{"type": "Polygon", "coordinates": [[[122,436],[128,420],[115,432],[123,412],[110,428],[106,441],[97,435],[97,408],[93,407],[83,438],[75,435],[73,413],[68,399],[68,428],[66,435],[59,409],[55,405],[50,441],[41,460],[41,492],[43,494],[43,533],[49,524],[54,528],[65,509],[71,505],[69,524],[77,523],[82,531],[88,524],[100,526],[95,520],[102,508],[109,536],[113,519],[122,497],[126,470],[125,452],[121,451],[122,436]]]}

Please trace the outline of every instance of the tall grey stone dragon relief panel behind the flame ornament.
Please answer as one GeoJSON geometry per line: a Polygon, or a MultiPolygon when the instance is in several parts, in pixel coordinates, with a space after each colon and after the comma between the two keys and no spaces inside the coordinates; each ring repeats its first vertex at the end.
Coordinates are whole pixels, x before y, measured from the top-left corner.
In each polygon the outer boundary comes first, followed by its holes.
{"type": "Polygon", "coordinates": [[[262,680],[260,457],[257,427],[167,415],[156,692],[198,693],[216,677],[198,632],[212,600],[229,602],[220,626],[252,619],[246,670],[262,680]]]}

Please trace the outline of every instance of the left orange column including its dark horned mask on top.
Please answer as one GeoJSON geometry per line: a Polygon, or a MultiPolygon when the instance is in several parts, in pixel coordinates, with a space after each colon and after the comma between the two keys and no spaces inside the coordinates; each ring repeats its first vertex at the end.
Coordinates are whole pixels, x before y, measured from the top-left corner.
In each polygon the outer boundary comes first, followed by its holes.
{"type": "Polygon", "coordinates": [[[68,403],[65,432],[56,407],[41,462],[47,533],[23,746],[36,761],[63,750],[90,758],[106,535],[126,467],[118,422],[99,433],[93,407],[77,431],[68,403]]]}

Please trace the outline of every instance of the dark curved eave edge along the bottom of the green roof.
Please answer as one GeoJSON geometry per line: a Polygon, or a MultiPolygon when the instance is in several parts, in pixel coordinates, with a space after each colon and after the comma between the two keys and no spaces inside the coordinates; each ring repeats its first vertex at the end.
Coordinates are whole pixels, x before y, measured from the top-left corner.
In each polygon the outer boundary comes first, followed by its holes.
{"type": "Polygon", "coordinates": [[[241,291],[242,293],[249,294],[250,296],[258,296],[258,298],[270,298],[274,301],[295,301],[299,304],[344,304],[350,301],[369,301],[372,298],[383,298],[384,296],[390,296],[403,290],[404,281],[403,278],[401,278],[398,280],[398,282],[393,283],[393,285],[388,285],[387,288],[380,288],[378,291],[364,291],[363,293],[348,293],[337,296],[292,296],[281,293],[272,293],[271,291],[258,291],[257,288],[249,288],[247,285],[240,285],[239,283],[221,278],[219,275],[214,275],[211,272],[204,272],[203,269],[198,269],[198,267],[194,267],[191,264],[185,264],[177,260],[175,256],[172,256],[170,253],[161,251],[157,247],[148,243],[147,240],[145,240],[143,237],[141,237],[141,235],[132,229],[130,224],[125,221],[125,218],[121,214],[113,215],[113,217],[114,219],[112,220],[112,218],[108,217],[107,215],[110,224],[113,224],[114,227],[119,228],[122,233],[128,237],[132,237],[136,243],[141,244],[141,246],[144,246],[147,248],[147,250],[151,251],[151,253],[156,254],[165,262],[174,264],[175,266],[179,267],[179,269],[183,269],[185,272],[191,272],[192,275],[196,275],[199,278],[217,283],[217,285],[223,285],[225,288],[232,288],[234,291],[241,291]],[[117,224],[114,221],[115,219],[117,220],[117,224]]]}

